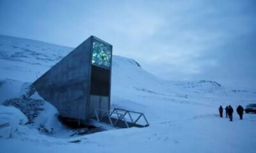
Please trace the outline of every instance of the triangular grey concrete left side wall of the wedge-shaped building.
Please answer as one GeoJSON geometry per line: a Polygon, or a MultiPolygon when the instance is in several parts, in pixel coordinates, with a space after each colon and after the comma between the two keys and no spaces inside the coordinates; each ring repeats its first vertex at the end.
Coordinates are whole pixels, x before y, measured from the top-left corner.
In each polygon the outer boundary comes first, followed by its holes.
{"type": "Polygon", "coordinates": [[[91,41],[88,38],[33,83],[38,94],[63,117],[86,119],[91,41]]]}

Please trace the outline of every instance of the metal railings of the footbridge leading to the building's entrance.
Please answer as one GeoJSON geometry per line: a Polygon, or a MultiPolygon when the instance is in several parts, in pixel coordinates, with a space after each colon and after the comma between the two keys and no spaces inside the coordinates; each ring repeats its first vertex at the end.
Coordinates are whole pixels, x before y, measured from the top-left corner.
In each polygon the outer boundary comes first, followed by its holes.
{"type": "Polygon", "coordinates": [[[114,108],[112,111],[108,111],[108,110],[102,110],[99,108],[93,108],[93,112],[90,114],[90,117],[92,117],[93,115],[95,115],[98,122],[102,122],[107,117],[109,124],[111,124],[111,126],[113,127],[115,127],[118,124],[118,122],[124,122],[126,128],[131,128],[133,126],[140,125],[138,124],[138,120],[142,119],[141,117],[143,117],[143,119],[147,124],[145,126],[142,126],[142,125],[140,126],[141,127],[149,126],[148,120],[146,119],[143,113],[134,112],[131,110],[114,108]],[[138,117],[134,118],[134,114],[137,114],[138,117]],[[130,122],[127,121],[125,117],[129,117],[130,122]]]}

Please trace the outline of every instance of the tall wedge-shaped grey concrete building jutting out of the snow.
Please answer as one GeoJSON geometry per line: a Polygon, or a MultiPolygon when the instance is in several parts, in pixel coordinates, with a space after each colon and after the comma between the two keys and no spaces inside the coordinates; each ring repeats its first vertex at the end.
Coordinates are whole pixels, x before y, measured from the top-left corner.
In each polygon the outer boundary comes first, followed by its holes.
{"type": "MultiPolygon", "coordinates": [[[[110,108],[111,59],[108,58],[110,66],[106,68],[92,64],[95,41],[99,47],[110,48],[112,59],[112,46],[90,36],[33,82],[38,94],[54,105],[62,117],[86,120],[93,108],[110,108]]],[[[99,47],[97,49],[102,50],[99,47]]]]}

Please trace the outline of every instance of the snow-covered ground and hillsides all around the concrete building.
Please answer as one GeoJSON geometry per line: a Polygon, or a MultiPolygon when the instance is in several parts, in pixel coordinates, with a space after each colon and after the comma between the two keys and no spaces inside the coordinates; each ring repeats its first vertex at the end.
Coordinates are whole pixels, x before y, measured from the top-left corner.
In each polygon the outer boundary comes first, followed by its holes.
{"type": "Polygon", "coordinates": [[[19,104],[30,122],[24,125],[22,112],[1,106],[0,135],[6,130],[12,135],[0,138],[0,152],[255,152],[256,114],[244,114],[244,120],[239,120],[234,112],[234,122],[229,122],[218,117],[218,107],[232,105],[236,109],[237,105],[256,103],[256,92],[227,89],[211,81],[167,82],[145,71],[138,62],[116,55],[112,108],[143,112],[150,126],[72,135],[74,131],[58,122],[52,105],[36,92],[32,96],[28,93],[29,82],[71,50],[0,36],[0,103],[19,104]],[[16,124],[1,126],[3,122],[16,124]]]}

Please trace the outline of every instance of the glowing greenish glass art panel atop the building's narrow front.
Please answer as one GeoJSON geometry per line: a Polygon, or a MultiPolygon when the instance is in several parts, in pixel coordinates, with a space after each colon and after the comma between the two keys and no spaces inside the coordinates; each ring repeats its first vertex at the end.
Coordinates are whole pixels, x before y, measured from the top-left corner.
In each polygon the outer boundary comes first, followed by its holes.
{"type": "Polygon", "coordinates": [[[93,39],[92,64],[103,68],[109,68],[111,64],[111,45],[93,39]]]}

